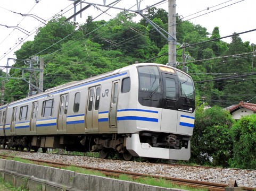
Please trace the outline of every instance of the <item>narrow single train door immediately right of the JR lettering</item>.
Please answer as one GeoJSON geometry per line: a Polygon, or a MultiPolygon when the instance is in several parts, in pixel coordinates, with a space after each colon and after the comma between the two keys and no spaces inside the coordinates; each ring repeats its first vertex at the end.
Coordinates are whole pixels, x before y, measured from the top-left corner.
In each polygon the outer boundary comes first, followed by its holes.
{"type": "Polygon", "coordinates": [[[111,105],[110,105],[110,128],[117,127],[117,100],[118,100],[119,81],[113,81],[111,105]]]}

